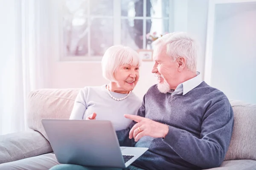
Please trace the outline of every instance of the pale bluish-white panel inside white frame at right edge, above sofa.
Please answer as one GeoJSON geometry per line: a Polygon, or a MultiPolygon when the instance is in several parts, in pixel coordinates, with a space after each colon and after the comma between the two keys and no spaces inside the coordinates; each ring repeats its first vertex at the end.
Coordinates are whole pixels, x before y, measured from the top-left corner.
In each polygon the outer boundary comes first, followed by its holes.
{"type": "Polygon", "coordinates": [[[256,103],[256,3],[216,6],[211,85],[256,103]]]}

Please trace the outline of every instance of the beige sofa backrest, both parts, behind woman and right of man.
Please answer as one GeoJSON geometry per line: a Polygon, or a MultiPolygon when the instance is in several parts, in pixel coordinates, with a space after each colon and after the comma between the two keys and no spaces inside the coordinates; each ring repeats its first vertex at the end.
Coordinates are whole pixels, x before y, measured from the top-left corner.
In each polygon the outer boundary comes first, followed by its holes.
{"type": "MultiPolygon", "coordinates": [[[[47,138],[41,119],[69,119],[80,89],[39,89],[29,95],[27,123],[47,138]]],[[[234,128],[225,160],[256,160],[256,105],[230,101],[234,128]]],[[[47,138],[48,139],[48,138],[47,138]]]]}

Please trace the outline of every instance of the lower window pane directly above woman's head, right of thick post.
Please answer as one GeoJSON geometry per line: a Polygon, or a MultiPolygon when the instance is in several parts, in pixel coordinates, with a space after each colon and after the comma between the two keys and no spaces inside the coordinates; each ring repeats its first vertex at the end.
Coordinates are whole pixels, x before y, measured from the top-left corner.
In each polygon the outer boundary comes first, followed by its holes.
{"type": "Polygon", "coordinates": [[[134,50],[143,48],[143,20],[122,19],[122,45],[134,50]]]}

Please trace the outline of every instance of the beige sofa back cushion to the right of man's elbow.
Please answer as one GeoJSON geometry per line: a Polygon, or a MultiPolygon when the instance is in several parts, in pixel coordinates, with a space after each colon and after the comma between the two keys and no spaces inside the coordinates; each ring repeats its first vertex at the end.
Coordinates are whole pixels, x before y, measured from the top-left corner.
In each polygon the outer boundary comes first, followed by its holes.
{"type": "Polygon", "coordinates": [[[256,105],[230,101],[234,127],[225,160],[256,160],[256,105]]]}

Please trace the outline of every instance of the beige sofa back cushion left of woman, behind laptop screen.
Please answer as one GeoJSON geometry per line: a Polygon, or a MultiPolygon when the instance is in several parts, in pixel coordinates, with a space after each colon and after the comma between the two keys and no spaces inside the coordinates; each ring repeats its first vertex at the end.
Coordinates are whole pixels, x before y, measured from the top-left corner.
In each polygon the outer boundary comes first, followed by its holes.
{"type": "MultiPolygon", "coordinates": [[[[29,94],[27,123],[46,138],[42,119],[69,119],[80,89],[39,89],[29,94]]],[[[47,138],[48,139],[48,138],[47,138]]]]}

